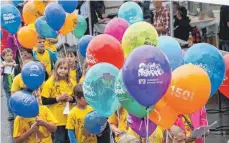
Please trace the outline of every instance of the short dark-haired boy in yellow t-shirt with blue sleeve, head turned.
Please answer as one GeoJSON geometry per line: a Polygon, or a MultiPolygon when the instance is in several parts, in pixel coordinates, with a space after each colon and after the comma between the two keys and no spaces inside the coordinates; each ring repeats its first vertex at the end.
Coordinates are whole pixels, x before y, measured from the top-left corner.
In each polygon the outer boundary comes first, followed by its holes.
{"type": "Polygon", "coordinates": [[[97,143],[97,138],[86,131],[84,119],[86,115],[93,111],[84,98],[82,84],[78,84],[74,89],[74,96],[77,102],[68,115],[66,129],[71,143],[97,143]]]}

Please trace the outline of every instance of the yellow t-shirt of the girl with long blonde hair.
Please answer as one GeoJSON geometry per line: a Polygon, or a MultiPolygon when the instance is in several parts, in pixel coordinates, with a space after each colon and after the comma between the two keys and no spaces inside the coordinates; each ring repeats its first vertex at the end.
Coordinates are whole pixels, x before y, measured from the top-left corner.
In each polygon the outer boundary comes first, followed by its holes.
{"type": "MultiPolygon", "coordinates": [[[[74,88],[74,82],[71,81],[70,83],[67,83],[65,80],[60,80],[59,82],[54,81],[54,77],[51,76],[44,84],[42,89],[42,96],[46,98],[56,98],[64,93],[67,93],[70,96],[73,96],[73,88],[74,88]]],[[[72,104],[70,104],[70,109],[72,107],[72,104]]],[[[66,102],[61,101],[56,104],[48,105],[48,108],[52,112],[53,116],[57,119],[58,124],[57,126],[64,126],[67,122],[67,115],[64,115],[64,108],[65,108],[66,102]]]]}

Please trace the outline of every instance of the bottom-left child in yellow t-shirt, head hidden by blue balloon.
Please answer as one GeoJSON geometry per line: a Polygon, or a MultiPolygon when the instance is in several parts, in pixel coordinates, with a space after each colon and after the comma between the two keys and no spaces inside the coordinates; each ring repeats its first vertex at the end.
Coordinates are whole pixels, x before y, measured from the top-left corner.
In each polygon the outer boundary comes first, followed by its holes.
{"type": "Polygon", "coordinates": [[[15,142],[52,143],[51,133],[56,131],[57,120],[50,110],[39,106],[39,115],[34,118],[17,116],[14,120],[13,138],[15,142]]]}

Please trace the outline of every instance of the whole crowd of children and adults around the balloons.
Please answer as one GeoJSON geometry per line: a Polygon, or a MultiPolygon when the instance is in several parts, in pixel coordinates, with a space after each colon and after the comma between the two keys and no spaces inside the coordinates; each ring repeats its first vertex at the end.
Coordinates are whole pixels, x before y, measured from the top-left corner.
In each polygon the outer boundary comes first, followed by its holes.
{"type": "MultiPolygon", "coordinates": [[[[147,4],[138,3],[144,8],[144,19],[154,25],[158,34],[170,35],[170,14],[162,6],[162,2],[153,2],[156,8],[153,16],[147,10],[147,4]]],[[[105,14],[102,1],[91,1],[90,4],[92,25],[98,22],[98,17],[108,17],[105,14]]],[[[20,5],[20,7],[23,7],[23,5],[20,5]]],[[[78,9],[89,24],[88,5],[85,1],[79,2],[78,9]]],[[[222,6],[219,37],[221,48],[226,51],[229,51],[228,13],[229,7],[222,6]]],[[[187,41],[190,36],[189,33],[193,31],[190,26],[190,19],[187,16],[187,10],[182,6],[177,6],[174,19],[174,36],[187,41]]],[[[4,29],[2,31],[2,87],[7,97],[8,120],[14,122],[13,139],[16,143],[148,142],[147,138],[140,137],[129,127],[127,122],[128,113],[123,107],[120,107],[108,118],[106,128],[101,134],[93,135],[85,130],[84,118],[93,109],[87,104],[84,97],[82,83],[90,67],[84,61],[81,68],[76,45],[69,46],[64,43],[60,47],[56,47],[57,39],[38,36],[37,44],[31,50],[20,46],[17,37],[8,34],[4,29]],[[57,51],[57,49],[59,50],[57,51]],[[39,115],[34,118],[23,118],[13,113],[9,105],[9,98],[17,91],[28,90],[23,83],[21,69],[30,61],[39,62],[44,67],[46,76],[42,86],[33,92],[33,96],[39,101],[39,115]],[[71,109],[68,114],[63,113],[66,104],[69,104],[71,109]]],[[[85,34],[89,34],[89,28],[85,34]]],[[[158,126],[150,135],[149,141],[156,143],[166,141],[168,143],[203,143],[203,138],[196,139],[192,137],[192,131],[206,125],[208,125],[208,121],[205,107],[203,107],[193,114],[180,115],[174,126],[169,130],[158,126]]]]}

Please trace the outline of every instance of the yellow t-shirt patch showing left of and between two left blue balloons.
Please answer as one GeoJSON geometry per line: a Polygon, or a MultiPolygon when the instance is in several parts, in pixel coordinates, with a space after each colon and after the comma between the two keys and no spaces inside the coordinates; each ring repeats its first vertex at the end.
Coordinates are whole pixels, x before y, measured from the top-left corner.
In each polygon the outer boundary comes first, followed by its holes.
{"type": "Polygon", "coordinates": [[[13,80],[12,87],[11,87],[11,92],[17,92],[17,91],[22,90],[23,88],[26,88],[26,86],[25,86],[25,84],[24,84],[24,82],[22,80],[22,76],[21,76],[21,73],[20,73],[13,80]]]}

